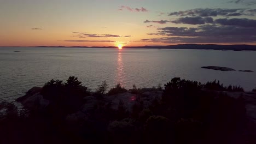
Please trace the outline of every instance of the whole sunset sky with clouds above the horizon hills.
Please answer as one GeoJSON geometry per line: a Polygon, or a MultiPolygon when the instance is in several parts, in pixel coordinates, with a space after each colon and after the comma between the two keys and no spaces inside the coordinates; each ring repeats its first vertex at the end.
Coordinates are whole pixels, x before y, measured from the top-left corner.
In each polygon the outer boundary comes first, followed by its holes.
{"type": "Polygon", "coordinates": [[[256,45],[256,0],[0,0],[0,46],[256,45]]]}

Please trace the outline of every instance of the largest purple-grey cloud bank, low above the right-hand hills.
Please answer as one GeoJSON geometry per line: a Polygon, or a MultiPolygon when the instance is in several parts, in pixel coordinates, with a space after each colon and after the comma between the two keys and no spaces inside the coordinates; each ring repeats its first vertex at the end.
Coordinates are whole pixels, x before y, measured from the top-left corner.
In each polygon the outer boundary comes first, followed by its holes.
{"type": "Polygon", "coordinates": [[[142,39],[162,43],[245,43],[256,41],[255,27],[202,25],[196,28],[164,27],[149,35],[164,38],[142,39]]]}

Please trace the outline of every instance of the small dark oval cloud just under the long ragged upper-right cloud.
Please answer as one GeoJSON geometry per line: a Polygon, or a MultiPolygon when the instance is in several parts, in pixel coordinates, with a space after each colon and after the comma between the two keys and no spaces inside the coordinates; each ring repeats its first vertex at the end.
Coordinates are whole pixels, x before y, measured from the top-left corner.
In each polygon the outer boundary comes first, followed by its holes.
{"type": "Polygon", "coordinates": [[[181,17],[172,21],[173,23],[184,23],[190,25],[202,25],[205,23],[212,23],[212,17],[181,17]]]}

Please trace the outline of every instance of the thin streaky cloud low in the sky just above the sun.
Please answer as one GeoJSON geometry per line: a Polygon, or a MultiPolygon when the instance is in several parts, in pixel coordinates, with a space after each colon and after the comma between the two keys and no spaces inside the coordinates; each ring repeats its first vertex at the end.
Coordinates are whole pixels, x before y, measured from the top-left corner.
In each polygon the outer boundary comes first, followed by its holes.
{"type": "Polygon", "coordinates": [[[132,37],[132,35],[118,35],[118,34],[86,34],[86,33],[80,33],[80,32],[73,32],[73,37],[78,37],[78,38],[85,38],[85,37],[90,37],[90,38],[120,38],[120,37],[132,37]]]}

